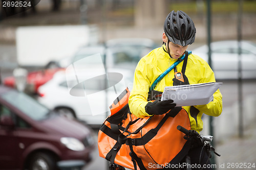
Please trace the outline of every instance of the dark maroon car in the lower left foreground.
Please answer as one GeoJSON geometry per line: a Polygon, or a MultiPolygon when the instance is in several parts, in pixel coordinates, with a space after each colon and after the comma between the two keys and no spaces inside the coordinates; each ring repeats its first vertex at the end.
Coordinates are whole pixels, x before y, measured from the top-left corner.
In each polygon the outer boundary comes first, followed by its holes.
{"type": "Polygon", "coordinates": [[[57,116],[25,93],[0,85],[0,169],[55,170],[91,161],[91,129],[57,116]]]}

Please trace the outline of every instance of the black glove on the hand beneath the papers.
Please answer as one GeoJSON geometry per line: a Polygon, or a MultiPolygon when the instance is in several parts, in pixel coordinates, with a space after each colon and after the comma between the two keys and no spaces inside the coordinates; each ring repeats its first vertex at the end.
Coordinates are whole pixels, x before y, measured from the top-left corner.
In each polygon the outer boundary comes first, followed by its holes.
{"type": "Polygon", "coordinates": [[[148,102],[145,106],[147,114],[164,114],[176,106],[173,100],[148,102]]]}

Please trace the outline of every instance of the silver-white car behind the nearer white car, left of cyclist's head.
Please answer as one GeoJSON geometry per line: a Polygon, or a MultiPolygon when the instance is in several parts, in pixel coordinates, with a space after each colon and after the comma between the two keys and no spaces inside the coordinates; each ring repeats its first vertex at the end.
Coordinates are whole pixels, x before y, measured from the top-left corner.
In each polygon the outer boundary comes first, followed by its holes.
{"type": "MultiPolygon", "coordinates": [[[[108,68],[128,68],[134,70],[138,61],[147,53],[158,47],[146,38],[123,38],[106,41],[105,44],[83,46],[72,57],[57,61],[59,67],[67,67],[81,58],[100,53],[102,61],[108,68]]],[[[52,61],[53,63],[53,61],[52,61]]]]}

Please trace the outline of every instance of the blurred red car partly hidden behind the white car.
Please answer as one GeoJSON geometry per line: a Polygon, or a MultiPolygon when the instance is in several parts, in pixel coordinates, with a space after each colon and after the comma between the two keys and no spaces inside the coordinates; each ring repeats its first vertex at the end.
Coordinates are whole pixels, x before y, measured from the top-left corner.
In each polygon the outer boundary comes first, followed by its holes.
{"type": "MultiPolygon", "coordinates": [[[[28,93],[36,93],[38,87],[51,80],[55,72],[63,69],[64,68],[49,68],[29,72],[25,91],[28,93]]],[[[16,85],[14,76],[5,78],[4,85],[15,88],[16,85]]]]}

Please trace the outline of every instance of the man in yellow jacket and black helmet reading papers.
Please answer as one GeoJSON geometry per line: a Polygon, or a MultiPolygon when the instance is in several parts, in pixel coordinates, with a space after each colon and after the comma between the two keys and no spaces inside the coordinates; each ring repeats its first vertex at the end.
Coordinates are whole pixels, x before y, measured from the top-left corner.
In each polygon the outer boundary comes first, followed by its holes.
{"type": "MultiPolygon", "coordinates": [[[[173,100],[148,102],[148,89],[163,71],[184,54],[188,45],[195,41],[195,35],[194,22],[185,12],[172,11],[168,14],[164,21],[162,47],[156,48],[144,56],[135,70],[134,86],[129,98],[129,107],[137,117],[163,114],[176,106],[173,100]]],[[[215,82],[214,72],[207,62],[199,56],[189,54],[185,71],[183,70],[183,65],[184,61],[171,70],[156,85],[154,90],[163,92],[165,86],[215,82]],[[175,71],[182,72],[183,80],[175,77],[175,71]]],[[[185,106],[183,108],[189,115],[191,129],[200,132],[203,129],[201,119],[203,113],[209,116],[219,116],[221,114],[222,94],[220,90],[217,90],[214,93],[214,100],[207,105],[185,106]]],[[[191,148],[188,155],[192,164],[210,164],[208,154],[204,149],[202,150],[202,146],[191,148]],[[199,160],[200,158],[201,160],[199,160]]]]}

